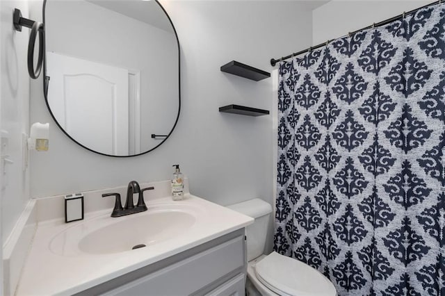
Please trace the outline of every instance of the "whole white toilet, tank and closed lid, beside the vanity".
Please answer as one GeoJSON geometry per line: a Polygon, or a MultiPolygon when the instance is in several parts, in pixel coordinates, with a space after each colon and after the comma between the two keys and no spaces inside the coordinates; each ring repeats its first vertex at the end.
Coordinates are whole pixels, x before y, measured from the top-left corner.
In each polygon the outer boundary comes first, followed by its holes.
{"type": "Polygon", "coordinates": [[[270,204],[261,199],[250,199],[227,207],[255,220],[245,231],[248,249],[247,295],[337,295],[332,282],[311,266],[276,252],[263,254],[272,212],[270,204]]]}

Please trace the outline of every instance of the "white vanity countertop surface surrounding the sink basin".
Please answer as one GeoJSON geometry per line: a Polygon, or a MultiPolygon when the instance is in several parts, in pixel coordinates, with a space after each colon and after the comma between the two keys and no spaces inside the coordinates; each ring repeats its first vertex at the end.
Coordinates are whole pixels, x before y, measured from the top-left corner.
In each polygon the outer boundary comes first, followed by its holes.
{"type": "MultiPolygon", "coordinates": [[[[148,211],[150,207],[171,202],[170,197],[150,200],[147,203],[148,211]]],[[[86,219],[79,222],[66,224],[60,219],[40,222],[22,270],[16,295],[72,295],[241,229],[253,222],[251,217],[193,195],[186,195],[183,201],[175,202],[175,206],[181,205],[200,209],[197,221],[193,227],[187,229],[186,233],[154,245],[115,254],[65,252],[63,256],[56,254],[59,252],[54,252],[54,248],[51,250],[49,247],[51,240],[58,233],[86,220],[104,220],[111,214],[111,209],[88,213],[86,219]]],[[[143,213],[133,215],[143,215],[143,213]]],[[[109,219],[116,221],[122,218],[109,219]]],[[[119,239],[118,233],[116,235],[116,239],[119,239]]]]}

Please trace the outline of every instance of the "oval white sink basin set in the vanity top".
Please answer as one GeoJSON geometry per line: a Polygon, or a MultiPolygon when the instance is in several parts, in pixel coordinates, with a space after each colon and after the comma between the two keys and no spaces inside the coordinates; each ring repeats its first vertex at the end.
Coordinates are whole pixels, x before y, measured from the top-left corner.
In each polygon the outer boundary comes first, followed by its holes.
{"type": "Polygon", "coordinates": [[[183,236],[195,224],[196,212],[190,206],[165,204],[124,217],[110,217],[107,213],[58,233],[49,249],[62,256],[135,252],[133,249],[183,236]]]}

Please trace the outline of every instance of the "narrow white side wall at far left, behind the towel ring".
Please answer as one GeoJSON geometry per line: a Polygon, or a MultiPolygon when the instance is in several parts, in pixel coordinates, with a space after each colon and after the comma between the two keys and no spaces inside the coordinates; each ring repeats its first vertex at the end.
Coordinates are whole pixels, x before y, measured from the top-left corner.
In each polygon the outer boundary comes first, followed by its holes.
{"type": "Polygon", "coordinates": [[[29,75],[26,67],[29,29],[13,28],[13,10],[19,8],[28,17],[28,2],[1,0],[0,83],[1,129],[8,132],[6,153],[14,161],[1,176],[2,242],[10,235],[17,218],[29,200],[29,170],[23,171],[22,133],[29,133],[29,75]]]}

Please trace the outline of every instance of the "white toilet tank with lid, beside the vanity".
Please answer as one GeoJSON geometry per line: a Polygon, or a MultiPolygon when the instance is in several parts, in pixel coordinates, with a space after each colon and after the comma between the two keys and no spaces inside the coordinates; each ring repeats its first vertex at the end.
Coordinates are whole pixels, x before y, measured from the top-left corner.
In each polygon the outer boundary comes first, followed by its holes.
{"type": "Polygon", "coordinates": [[[266,236],[272,206],[262,199],[250,199],[247,202],[227,206],[238,213],[254,218],[253,224],[245,229],[248,247],[248,261],[261,256],[266,247],[266,236]]]}

